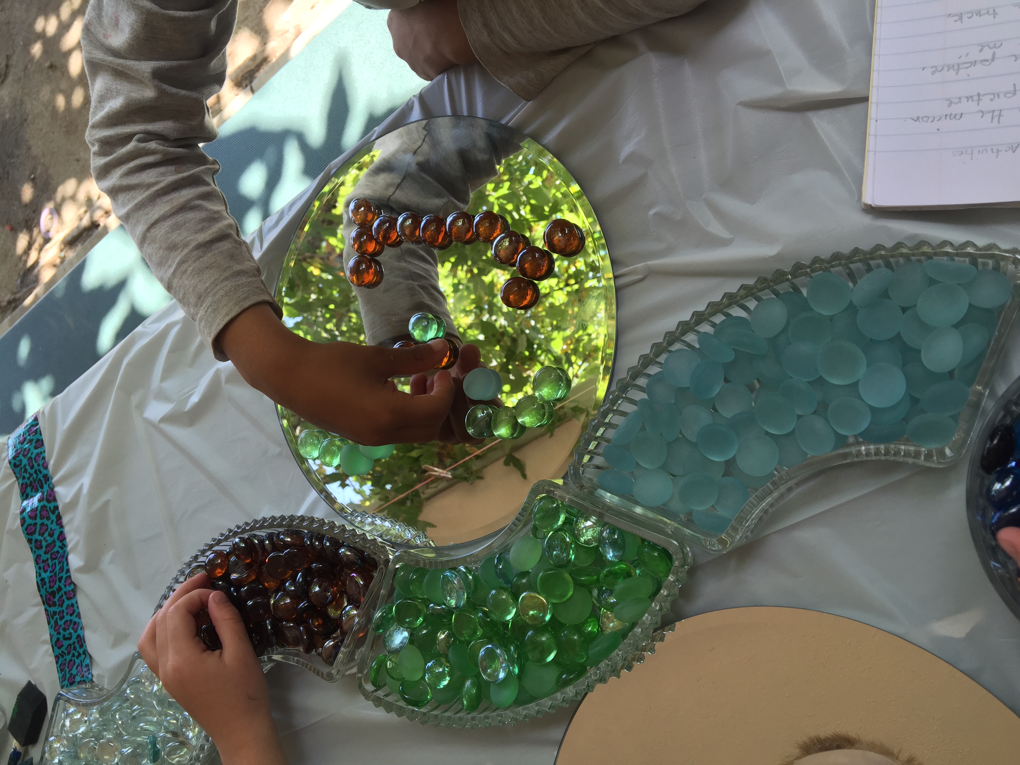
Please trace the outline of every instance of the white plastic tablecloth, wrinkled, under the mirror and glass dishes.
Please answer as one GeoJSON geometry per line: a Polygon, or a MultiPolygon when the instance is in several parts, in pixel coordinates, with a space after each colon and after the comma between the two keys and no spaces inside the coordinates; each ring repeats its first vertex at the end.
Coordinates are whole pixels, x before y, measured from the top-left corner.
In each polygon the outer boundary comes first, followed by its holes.
{"type": "MultiPolygon", "coordinates": [[[[1011,210],[861,208],[872,7],[708,0],[600,45],[530,103],[471,67],[441,76],[379,131],[475,114],[519,128],[562,160],[612,254],[621,374],[709,300],[798,260],[901,240],[1020,244],[1011,210]]],[[[329,171],[255,235],[270,284],[329,171]]],[[[992,396],[1017,374],[1013,354],[992,396]]],[[[40,420],[101,682],[122,672],[165,583],[201,544],[255,516],[330,512],[291,457],[270,402],[212,359],[175,305],[40,420]]],[[[922,646],[1020,711],[1020,623],[980,569],[963,494],[962,463],[833,470],[787,498],[757,541],[700,562],[674,614],[782,605],[849,616],[922,646]]],[[[57,682],[6,465],[0,508],[0,706],[9,709],[26,679],[50,698],[57,682]]],[[[511,728],[437,730],[373,709],[350,679],[328,684],[291,667],[270,677],[296,763],[336,753],[549,763],[569,719],[561,711],[511,728]]]]}

